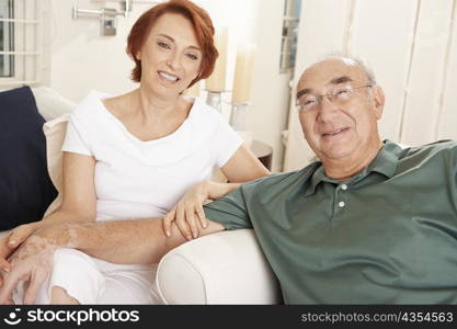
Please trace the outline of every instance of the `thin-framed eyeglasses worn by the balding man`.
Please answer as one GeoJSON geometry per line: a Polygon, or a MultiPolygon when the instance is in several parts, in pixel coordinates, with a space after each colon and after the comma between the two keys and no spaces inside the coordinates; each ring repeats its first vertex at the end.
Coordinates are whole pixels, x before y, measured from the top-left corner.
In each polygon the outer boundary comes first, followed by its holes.
{"type": "Polygon", "coordinates": [[[325,94],[313,94],[313,93],[304,93],[300,94],[300,91],[297,93],[297,103],[296,106],[299,112],[309,112],[318,109],[323,101],[323,98],[327,98],[331,103],[335,105],[344,105],[354,97],[354,92],[361,88],[370,88],[373,84],[364,84],[361,87],[345,86],[341,88],[335,88],[329,93],[325,94]]]}

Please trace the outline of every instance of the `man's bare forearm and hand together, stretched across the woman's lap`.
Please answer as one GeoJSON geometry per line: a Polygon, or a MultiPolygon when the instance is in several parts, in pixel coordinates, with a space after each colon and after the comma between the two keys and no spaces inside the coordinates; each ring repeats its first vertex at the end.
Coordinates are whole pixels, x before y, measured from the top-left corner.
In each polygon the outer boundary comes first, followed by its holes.
{"type": "MultiPolygon", "coordinates": [[[[210,222],[203,235],[222,230],[210,222]]],[[[157,263],[171,249],[186,240],[172,225],[173,237],[162,232],[160,218],[59,224],[44,226],[28,237],[11,256],[11,270],[0,288],[0,304],[13,304],[12,291],[19,281],[28,281],[24,304],[35,303],[53,266],[56,248],[75,248],[115,263],[157,263]]]]}

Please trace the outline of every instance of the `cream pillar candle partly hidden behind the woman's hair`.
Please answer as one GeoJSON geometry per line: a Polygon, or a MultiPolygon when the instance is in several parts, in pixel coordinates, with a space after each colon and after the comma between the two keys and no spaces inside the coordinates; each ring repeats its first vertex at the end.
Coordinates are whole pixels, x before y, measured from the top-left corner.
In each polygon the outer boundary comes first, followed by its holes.
{"type": "Polygon", "coordinates": [[[219,57],[216,60],[213,73],[206,79],[206,90],[222,92],[226,90],[228,27],[218,29],[214,41],[219,57]]]}

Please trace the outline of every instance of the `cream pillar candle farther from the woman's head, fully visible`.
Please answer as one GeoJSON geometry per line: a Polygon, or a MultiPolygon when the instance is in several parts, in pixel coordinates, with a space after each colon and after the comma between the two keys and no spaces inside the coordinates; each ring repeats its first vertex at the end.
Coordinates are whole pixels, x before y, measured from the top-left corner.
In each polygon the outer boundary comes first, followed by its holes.
{"type": "Polygon", "coordinates": [[[248,104],[251,99],[256,45],[243,45],[237,52],[232,104],[248,104]]]}

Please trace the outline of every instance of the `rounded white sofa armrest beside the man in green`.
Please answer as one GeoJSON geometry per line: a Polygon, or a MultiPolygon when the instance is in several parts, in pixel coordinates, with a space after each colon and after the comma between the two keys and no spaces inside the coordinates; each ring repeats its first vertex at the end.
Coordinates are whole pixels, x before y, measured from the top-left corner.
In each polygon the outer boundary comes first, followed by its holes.
{"type": "Polygon", "coordinates": [[[184,243],[159,263],[164,304],[278,304],[279,287],[252,229],[184,243]]]}

